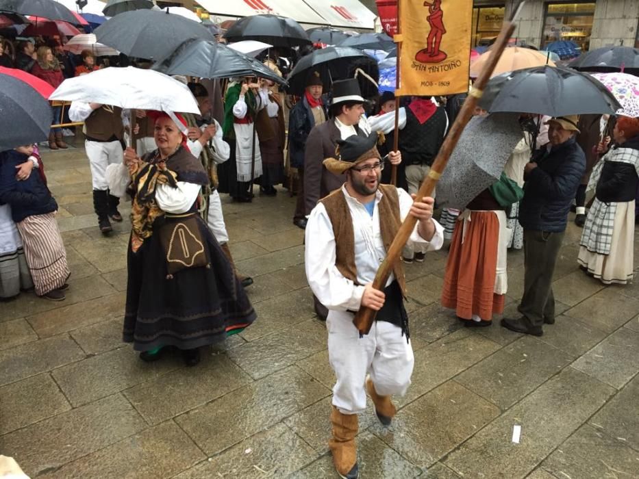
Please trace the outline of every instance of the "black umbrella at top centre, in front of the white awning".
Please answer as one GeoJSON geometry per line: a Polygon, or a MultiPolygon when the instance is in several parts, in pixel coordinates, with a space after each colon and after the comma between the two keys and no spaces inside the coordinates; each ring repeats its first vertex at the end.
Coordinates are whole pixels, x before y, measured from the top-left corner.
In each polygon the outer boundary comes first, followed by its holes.
{"type": "Polygon", "coordinates": [[[308,34],[292,18],[277,15],[245,16],[224,34],[229,43],[258,40],[273,47],[303,47],[312,44],[308,34]]]}

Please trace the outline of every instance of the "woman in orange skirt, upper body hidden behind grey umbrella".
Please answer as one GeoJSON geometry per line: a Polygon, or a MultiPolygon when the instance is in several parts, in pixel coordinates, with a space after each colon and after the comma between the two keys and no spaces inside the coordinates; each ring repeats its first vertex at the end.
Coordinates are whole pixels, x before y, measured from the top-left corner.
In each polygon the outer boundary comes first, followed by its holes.
{"type": "Polygon", "coordinates": [[[464,326],[490,326],[502,313],[508,277],[508,218],[490,191],[468,203],[458,218],[446,264],[442,306],[464,326]]]}

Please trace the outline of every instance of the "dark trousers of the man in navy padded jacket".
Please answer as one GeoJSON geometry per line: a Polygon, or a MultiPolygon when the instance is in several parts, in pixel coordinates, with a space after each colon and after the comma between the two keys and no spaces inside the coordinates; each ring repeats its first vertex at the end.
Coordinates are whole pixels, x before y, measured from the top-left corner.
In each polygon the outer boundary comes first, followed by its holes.
{"type": "Polygon", "coordinates": [[[555,318],[553,274],[564,234],[524,230],[524,294],[518,310],[534,326],[555,318]]]}

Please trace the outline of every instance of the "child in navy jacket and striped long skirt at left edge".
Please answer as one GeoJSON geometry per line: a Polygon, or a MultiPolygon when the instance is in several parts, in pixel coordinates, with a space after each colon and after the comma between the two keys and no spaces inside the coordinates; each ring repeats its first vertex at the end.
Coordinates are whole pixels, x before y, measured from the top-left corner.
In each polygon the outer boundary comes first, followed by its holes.
{"type": "Polygon", "coordinates": [[[40,174],[21,176],[18,168],[31,161],[34,146],[20,146],[0,153],[0,204],[11,207],[24,245],[27,265],[36,294],[42,298],[61,301],[68,288],[69,276],[66,250],[55,221],[58,203],[40,174]]]}

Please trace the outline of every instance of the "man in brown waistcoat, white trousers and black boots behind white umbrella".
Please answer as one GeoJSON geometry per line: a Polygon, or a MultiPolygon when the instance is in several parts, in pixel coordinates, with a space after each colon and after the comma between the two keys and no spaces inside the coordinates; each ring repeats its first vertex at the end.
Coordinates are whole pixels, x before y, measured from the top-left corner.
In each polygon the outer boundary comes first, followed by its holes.
{"type": "Polygon", "coordinates": [[[100,103],[74,101],[68,109],[71,121],[84,121],[84,148],[91,168],[93,208],[98,216],[98,226],[104,234],[112,231],[109,218],[122,221],[118,211],[120,198],[109,194],[105,178],[110,164],[121,164],[124,151],[122,140],[124,125],[122,109],[100,103]]]}

